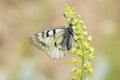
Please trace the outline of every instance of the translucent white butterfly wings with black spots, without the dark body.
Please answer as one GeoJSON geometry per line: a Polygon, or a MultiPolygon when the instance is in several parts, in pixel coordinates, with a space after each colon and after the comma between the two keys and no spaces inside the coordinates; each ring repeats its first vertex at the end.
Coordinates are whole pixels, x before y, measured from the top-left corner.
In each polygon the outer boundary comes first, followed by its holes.
{"type": "Polygon", "coordinates": [[[29,38],[29,43],[38,49],[44,50],[51,58],[60,59],[65,56],[66,52],[63,43],[64,33],[64,28],[38,32],[29,38]]]}

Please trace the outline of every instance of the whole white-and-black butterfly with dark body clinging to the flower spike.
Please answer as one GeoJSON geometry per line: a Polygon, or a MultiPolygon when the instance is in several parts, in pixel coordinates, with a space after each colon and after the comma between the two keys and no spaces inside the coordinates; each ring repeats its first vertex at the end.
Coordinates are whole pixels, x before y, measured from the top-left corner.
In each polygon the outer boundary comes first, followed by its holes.
{"type": "Polygon", "coordinates": [[[61,59],[72,48],[73,24],[38,32],[29,37],[29,43],[53,59],[61,59]]]}

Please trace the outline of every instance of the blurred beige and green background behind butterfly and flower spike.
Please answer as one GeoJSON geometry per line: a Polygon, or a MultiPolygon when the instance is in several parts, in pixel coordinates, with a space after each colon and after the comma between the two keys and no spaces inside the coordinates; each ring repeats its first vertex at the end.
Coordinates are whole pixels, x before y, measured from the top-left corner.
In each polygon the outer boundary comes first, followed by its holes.
{"type": "Polygon", "coordinates": [[[27,42],[35,32],[65,24],[65,3],[93,37],[92,80],[120,79],[120,0],[0,0],[0,80],[69,80],[71,53],[53,60],[27,42]]]}

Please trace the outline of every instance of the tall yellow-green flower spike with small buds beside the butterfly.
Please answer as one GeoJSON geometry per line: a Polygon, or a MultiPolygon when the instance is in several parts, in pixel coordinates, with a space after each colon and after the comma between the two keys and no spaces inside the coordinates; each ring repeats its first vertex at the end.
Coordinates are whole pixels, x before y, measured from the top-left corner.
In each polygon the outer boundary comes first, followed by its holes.
{"type": "Polygon", "coordinates": [[[88,34],[87,27],[84,25],[84,21],[81,20],[81,16],[76,14],[73,7],[65,5],[64,17],[67,24],[73,24],[75,34],[72,52],[77,57],[71,61],[73,76],[70,79],[90,80],[90,76],[93,75],[91,61],[94,59],[94,48],[90,46],[92,37],[88,34]]]}

